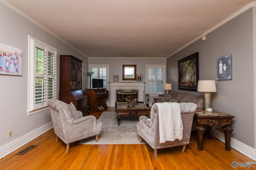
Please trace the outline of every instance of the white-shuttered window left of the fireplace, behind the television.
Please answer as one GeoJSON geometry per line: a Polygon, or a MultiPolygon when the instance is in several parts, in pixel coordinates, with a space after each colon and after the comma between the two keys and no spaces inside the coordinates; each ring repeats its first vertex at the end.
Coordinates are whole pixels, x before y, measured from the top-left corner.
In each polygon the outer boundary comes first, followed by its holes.
{"type": "Polygon", "coordinates": [[[108,88],[108,65],[89,65],[89,70],[93,72],[91,79],[103,79],[103,88],[108,88]]]}

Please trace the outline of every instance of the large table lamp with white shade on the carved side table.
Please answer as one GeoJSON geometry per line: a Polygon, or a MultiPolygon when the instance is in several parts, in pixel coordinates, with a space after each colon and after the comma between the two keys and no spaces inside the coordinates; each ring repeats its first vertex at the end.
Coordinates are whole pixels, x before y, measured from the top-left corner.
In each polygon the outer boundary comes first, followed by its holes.
{"type": "Polygon", "coordinates": [[[217,92],[215,80],[198,80],[197,91],[203,92],[204,109],[211,108],[210,92],[217,92]]]}

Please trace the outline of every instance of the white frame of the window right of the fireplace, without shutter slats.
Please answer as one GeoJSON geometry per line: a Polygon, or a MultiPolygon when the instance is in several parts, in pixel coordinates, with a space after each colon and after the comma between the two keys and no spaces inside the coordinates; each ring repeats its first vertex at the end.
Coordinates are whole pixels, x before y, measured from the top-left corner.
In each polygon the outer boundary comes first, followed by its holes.
{"type": "MultiPolygon", "coordinates": [[[[163,91],[162,92],[157,92],[157,86],[155,87],[155,92],[148,92],[148,82],[149,82],[149,80],[148,80],[148,68],[149,67],[154,67],[155,68],[155,70],[156,70],[156,68],[163,68],[163,86],[164,86],[164,84],[166,83],[166,65],[146,65],[146,93],[147,94],[151,94],[151,95],[159,95],[159,94],[164,94],[164,89],[163,89],[163,91]]],[[[156,82],[158,81],[158,80],[154,80],[155,81],[155,84],[157,84],[156,82]]]]}

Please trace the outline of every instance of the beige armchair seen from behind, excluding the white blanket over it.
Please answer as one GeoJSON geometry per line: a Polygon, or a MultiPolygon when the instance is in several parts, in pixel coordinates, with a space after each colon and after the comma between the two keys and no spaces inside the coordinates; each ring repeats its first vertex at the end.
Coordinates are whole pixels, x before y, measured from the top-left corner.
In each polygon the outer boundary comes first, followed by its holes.
{"type": "MultiPolygon", "coordinates": [[[[167,102],[166,102],[167,103],[167,102]]],[[[176,103],[177,104],[177,103],[176,103]]],[[[139,122],[137,123],[138,134],[140,135],[140,142],[142,139],[152,147],[154,150],[154,158],[157,159],[157,149],[182,146],[182,152],[185,151],[186,145],[190,142],[190,133],[192,128],[192,122],[194,112],[196,111],[197,105],[194,103],[178,103],[180,106],[180,113],[183,125],[182,139],[176,139],[175,141],[165,141],[160,143],[160,131],[159,131],[159,114],[158,104],[154,104],[151,108],[150,119],[146,116],[140,116],[139,122]]],[[[159,109],[160,110],[160,109],[159,109]]],[[[173,123],[168,123],[173,124],[173,123]]]]}

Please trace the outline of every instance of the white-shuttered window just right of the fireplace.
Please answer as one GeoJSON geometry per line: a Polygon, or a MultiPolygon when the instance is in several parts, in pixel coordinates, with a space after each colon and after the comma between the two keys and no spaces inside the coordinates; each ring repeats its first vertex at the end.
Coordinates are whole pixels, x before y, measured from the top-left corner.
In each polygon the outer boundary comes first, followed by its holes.
{"type": "Polygon", "coordinates": [[[146,82],[148,94],[163,94],[164,92],[164,65],[146,65],[146,82]]]}

